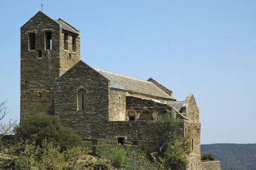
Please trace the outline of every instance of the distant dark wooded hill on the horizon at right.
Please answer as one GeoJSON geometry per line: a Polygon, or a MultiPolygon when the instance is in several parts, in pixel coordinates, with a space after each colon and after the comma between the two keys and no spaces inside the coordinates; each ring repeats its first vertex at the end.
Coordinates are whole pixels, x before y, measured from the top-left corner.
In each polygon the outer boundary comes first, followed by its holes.
{"type": "Polygon", "coordinates": [[[201,154],[212,153],[221,169],[256,169],[256,144],[201,144],[201,154]]]}

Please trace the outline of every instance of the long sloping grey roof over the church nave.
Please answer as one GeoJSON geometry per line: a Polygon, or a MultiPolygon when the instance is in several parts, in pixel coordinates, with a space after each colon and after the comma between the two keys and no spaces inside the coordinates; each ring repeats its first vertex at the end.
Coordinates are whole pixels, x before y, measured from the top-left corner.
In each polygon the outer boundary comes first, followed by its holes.
{"type": "Polygon", "coordinates": [[[155,97],[171,98],[163,90],[158,88],[155,84],[149,81],[143,81],[117,73],[106,72],[103,70],[95,69],[109,79],[110,88],[123,89],[125,91],[132,91],[135,93],[142,93],[155,97]]]}

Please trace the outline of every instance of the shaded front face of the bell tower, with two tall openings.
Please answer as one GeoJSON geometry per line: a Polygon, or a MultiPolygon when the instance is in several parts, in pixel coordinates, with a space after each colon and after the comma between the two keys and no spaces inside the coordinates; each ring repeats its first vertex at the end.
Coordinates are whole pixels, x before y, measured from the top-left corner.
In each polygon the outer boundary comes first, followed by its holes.
{"type": "Polygon", "coordinates": [[[53,87],[59,77],[59,54],[60,25],[38,12],[20,28],[20,118],[54,112],[53,87]],[[52,49],[45,47],[46,31],[52,34],[52,49]],[[35,33],[33,50],[29,50],[29,33],[35,33]]]}

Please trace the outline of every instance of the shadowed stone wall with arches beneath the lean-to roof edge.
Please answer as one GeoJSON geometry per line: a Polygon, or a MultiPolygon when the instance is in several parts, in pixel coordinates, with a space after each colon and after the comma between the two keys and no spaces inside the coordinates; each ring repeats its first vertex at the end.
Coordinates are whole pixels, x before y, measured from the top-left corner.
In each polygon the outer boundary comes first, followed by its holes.
{"type": "MultiPolygon", "coordinates": [[[[156,120],[157,114],[164,114],[166,109],[172,111],[172,107],[159,104],[153,100],[146,100],[138,97],[126,97],[126,116],[130,112],[134,112],[135,120],[141,120],[142,114],[147,112],[152,114],[152,120],[156,120]]],[[[150,119],[148,120],[150,121],[150,119]]]]}

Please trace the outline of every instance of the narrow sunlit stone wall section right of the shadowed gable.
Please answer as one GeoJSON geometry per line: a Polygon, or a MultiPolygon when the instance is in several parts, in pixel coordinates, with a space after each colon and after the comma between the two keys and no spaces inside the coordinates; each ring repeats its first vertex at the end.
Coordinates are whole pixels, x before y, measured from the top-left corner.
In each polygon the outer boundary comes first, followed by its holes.
{"type": "Polygon", "coordinates": [[[127,92],[109,89],[109,121],[126,121],[125,96],[127,92]]]}

